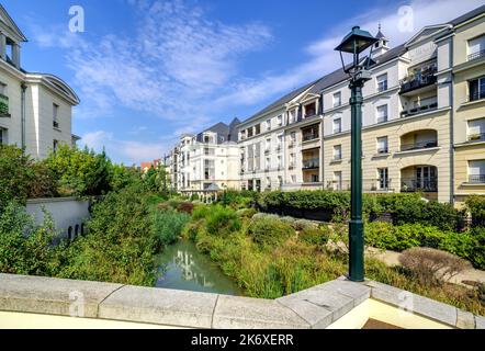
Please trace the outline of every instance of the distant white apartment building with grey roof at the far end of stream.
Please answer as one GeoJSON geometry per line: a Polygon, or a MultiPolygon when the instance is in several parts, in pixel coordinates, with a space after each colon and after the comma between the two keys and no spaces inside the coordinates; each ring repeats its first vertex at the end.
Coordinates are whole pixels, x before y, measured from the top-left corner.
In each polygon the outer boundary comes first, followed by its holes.
{"type": "Polygon", "coordinates": [[[183,135],[166,162],[174,190],[206,195],[239,188],[239,147],[235,118],[198,135],[183,135]]]}

